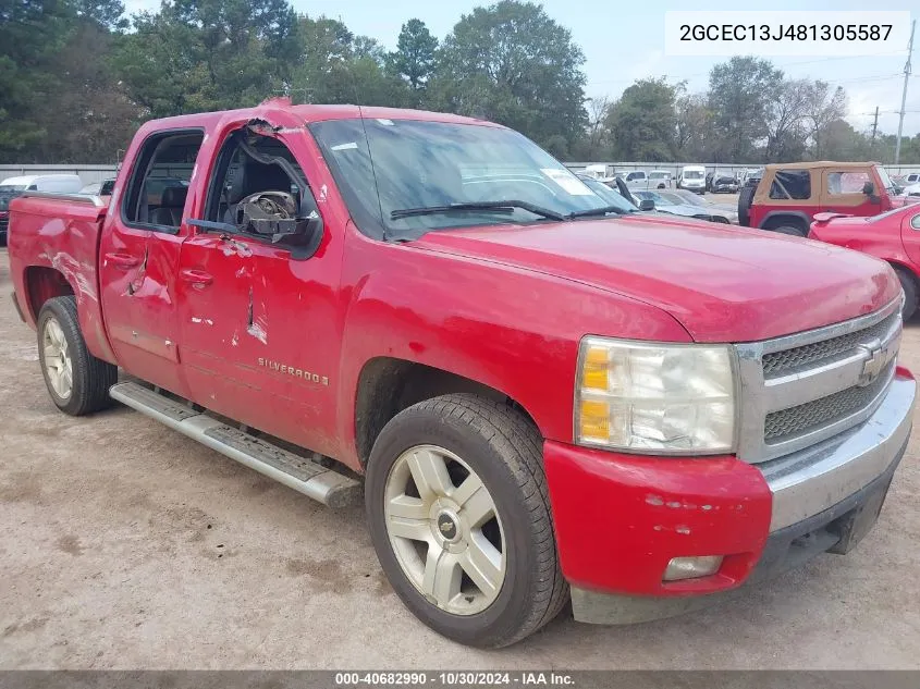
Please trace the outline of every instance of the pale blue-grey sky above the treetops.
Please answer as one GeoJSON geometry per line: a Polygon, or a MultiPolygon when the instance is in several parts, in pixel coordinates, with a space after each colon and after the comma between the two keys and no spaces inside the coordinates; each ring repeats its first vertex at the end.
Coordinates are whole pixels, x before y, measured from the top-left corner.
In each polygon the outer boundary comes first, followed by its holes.
{"type": "MultiPolygon", "coordinates": [[[[128,12],[154,10],[159,0],[126,0],[128,12]]],[[[462,14],[490,0],[293,0],[297,12],[311,16],[324,14],[341,19],[356,34],[377,38],[387,49],[395,48],[402,24],[420,19],[439,39],[456,24],[462,14]]],[[[727,58],[677,58],[664,54],[664,13],[666,10],[910,10],[920,19],[916,0],[834,0],[801,2],[707,3],[699,7],[686,1],[650,0],[544,0],[547,12],[572,32],[585,52],[587,95],[592,98],[618,97],[635,79],[666,76],[686,79],[691,91],[706,89],[709,70],[727,58]]],[[[918,29],[920,33],[920,29],[918,29]]],[[[820,78],[843,86],[849,96],[849,121],[858,130],[871,126],[875,106],[880,109],[879,128],[897,132],[904,63],[907,46],[874,57],[772,58],[774,64],[793,77],[820,78]]],[[[920,36],[915,39],[913,75],[907,91],[904,133],[920,132],[920,36]]]]}

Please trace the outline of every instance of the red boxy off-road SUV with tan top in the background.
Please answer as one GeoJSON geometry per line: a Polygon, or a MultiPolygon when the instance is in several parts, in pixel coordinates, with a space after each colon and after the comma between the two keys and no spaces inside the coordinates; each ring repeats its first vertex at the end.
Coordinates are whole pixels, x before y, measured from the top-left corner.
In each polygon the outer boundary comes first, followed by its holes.
{"type": "Polygon", "coordinates": [[[904,205],[885,169],[871,162],[766,165],[756,188],[738,196],[743,225],[804,237],[814,214],[878,216],[904,205]]]}

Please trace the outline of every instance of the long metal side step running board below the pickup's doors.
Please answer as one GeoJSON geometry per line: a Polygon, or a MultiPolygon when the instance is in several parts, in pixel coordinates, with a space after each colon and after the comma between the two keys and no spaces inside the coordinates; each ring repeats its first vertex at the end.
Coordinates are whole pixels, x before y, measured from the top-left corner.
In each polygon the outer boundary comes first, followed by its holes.
{"type": "Polygon", "coordinates": [[[345,507],[361,500],[359,481],[228,426],[187,404],[131,382],[112,385],[109,394],[132,409],[323,505],[345,507]]]}

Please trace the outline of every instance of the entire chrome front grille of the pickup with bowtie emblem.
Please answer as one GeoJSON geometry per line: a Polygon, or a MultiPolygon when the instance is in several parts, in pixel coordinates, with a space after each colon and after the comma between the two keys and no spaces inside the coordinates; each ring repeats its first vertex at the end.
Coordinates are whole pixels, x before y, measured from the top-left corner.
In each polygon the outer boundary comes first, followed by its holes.
{"type": "Polygon", "coordinates": [[[849,321],[735,345],[738,456],[766,462],[868,419],[894,378],[900,331],[895,299],[849,321]]]}

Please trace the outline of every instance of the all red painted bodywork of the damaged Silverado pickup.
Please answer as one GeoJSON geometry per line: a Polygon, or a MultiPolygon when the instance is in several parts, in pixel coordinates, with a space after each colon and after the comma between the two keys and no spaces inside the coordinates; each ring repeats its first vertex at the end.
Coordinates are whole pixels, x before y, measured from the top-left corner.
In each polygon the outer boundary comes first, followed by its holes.
{"type": "MultiPolygon", "coordinates": [[[[475,122],[377,108],[364,114],[475,122]]],[[[660,218],[478,227],[406,244],[370,239],[352,224],[304,127],[355,116],[352,106],[272,102],[149,122],[115,183],[111,209],[120,208],[125,175],[149,134],[201,127],[207,136],[184,209],[185,219],[200,218],[223,140],[253,118],[268,121],[296,156],[323,219],[322,244],[304,261],[187,223],[163,234],[125,226],[116,210],[14,200],[10,258],[29,324],[27,269],[58,270],[77,295],[94,354],[357,470],[355,398],[365,366],[393,357],[464,376],[513,397],[547,439],[572,581],[672,594],[744,579],[770,521],[760,473],[732,457],[639,458],[567,445],[578,343],[586,334],[733,342],[815,328],[894,298],[891,270],[827,245],[660,218]],[[247,327],[250,302],[257,328],[247,327]],[[727,558],[714,577],[661,585],[667,559],[695,554],[727,558]]]]}

